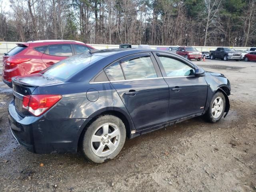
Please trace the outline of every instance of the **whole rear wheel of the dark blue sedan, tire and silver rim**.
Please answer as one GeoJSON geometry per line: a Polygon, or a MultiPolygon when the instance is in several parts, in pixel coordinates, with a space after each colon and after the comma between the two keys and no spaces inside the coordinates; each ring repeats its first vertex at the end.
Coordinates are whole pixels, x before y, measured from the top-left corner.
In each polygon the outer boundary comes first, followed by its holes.
{"type": "Polygon", "coordinates": [[[84,133],[82,153],[91,162],[103,163],[115,158],[124,146],[126,128],[116,116],[98,117],[84,133]]]}

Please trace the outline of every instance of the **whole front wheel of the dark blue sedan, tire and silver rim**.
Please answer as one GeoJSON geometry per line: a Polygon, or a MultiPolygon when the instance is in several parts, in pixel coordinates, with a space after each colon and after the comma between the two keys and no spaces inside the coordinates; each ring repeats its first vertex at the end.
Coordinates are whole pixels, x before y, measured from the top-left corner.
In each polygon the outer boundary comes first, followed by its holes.
{"type": "Polygon", "coordinates": [[[226,108],[226,98],[222,92],[216,92],[212,97],[210,106],[207,112],[204,114],[209,122],[218,122],[225,111],[226,108]]]}

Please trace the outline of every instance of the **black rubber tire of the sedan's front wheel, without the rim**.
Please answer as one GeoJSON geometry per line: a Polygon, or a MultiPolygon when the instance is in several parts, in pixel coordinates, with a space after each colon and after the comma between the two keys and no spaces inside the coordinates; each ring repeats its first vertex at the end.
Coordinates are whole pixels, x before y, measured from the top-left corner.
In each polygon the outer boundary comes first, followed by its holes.
{"type": "Polygon", "coordinates": [[[216,92],[214,94],[214,96],[212,97],[210,106],[209,106],[207,112],[204,114],[204,117],[206,118],[206,120],[208,120],[211,123],[218,122],[222,118],[225,108],[226,108],[226,98],[225,98],[224,94],[222,92],[216,92]],[[212,106],[213,106],[214,100],[218,97],[222,98],[222,100],[223,100],[223,109],[222,109],[220,116],[218,116],[218,118],[214,118],[214,116],[212,115],[212,106]]]}

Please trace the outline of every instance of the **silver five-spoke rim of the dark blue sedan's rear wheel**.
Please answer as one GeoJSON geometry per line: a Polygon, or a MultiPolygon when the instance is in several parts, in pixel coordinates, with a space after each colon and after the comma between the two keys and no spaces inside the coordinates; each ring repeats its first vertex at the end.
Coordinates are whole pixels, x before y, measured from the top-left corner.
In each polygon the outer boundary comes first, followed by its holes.
{"type": "Polygon", "coordinates": [[[91,138],[91,149],[94,154],[105,157],[112,154],[120,142],[120,130],[113,123],[99,126],[91,138]]]}

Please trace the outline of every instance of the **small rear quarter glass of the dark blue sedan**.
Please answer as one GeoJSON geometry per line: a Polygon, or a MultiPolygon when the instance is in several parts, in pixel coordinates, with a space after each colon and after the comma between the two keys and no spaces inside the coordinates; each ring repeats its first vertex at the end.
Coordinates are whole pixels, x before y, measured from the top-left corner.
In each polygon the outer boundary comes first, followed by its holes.
{"type": "Polygon", "coordinates": [[[116,62],[105,69],[105,72],[110,81],[122,81],[124,80],[124,74],[120,67],[119,62],[116,62]]]}

